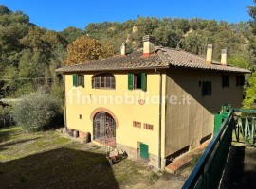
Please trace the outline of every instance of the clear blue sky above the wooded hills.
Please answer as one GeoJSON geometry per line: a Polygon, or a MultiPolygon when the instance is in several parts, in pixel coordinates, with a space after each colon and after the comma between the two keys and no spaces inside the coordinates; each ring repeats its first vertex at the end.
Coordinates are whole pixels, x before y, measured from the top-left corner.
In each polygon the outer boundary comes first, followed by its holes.
{"type": "Polygon", "coordinates": [[[249,20],[253,0],[0,0],[12,10],[22,10],[30,22],[47,29],[84,27],[103,21],[123,22],[137,16],[204,18],[238,23],[249,20]]]}

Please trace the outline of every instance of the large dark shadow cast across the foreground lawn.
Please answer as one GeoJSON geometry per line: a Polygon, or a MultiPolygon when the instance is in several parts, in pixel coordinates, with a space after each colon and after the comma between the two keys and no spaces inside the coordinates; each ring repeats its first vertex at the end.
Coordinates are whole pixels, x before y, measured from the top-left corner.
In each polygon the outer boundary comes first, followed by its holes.
{"type": "Polygon", "coordinates": [[[104,154],[58,148],[0,163],[4,188],[119,188],[104,154]]]}

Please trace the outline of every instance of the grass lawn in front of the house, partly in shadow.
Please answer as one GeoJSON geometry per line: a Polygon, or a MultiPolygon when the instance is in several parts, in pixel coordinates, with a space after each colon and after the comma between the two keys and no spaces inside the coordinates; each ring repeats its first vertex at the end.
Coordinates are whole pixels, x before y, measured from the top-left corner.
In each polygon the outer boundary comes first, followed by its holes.
{"type": "MultiPolygon", "coordinates": [[[[184,181],[172,179],[176,188],[184,181]]],[[[151,183],[160,180],[148,166],[128,159],[111,165],[98,146],[64,138],[54,130],[0,129],[1,189],[154,188],[151,183]]]]}

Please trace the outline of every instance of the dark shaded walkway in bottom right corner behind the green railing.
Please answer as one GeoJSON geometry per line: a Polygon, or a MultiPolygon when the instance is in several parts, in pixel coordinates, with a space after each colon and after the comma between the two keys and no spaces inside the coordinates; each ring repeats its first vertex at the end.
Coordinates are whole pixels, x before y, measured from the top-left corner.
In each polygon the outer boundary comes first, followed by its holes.
{"type": "Polygon", "coordinates": [[[256,148],[231,146],[221,189],[251,189],[256,186],[256,148]]]}

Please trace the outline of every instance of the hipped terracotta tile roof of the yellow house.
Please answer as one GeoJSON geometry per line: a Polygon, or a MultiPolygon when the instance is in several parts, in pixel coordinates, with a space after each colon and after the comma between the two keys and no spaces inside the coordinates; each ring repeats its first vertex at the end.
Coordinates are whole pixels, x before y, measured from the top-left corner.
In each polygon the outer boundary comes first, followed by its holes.
{"type": "Polygon", "coordinates": [[[101,60],[92,60],[81,64],[64,66],[56,70],[61,73],[90,72],[90,71],[114,71],[114,70],[135,70],[135,69],[169,69],[169,68],[191,68],[200,70],[224,71],[250,73],[247,69],[229,65],[221,65],[220,62],[212,61],[206,63],[205,58],[192,53],[157,47],[155,53],[149,57],[143,57],[143,51],[138,50],[121,57],[120,55],[101,60]]]}

